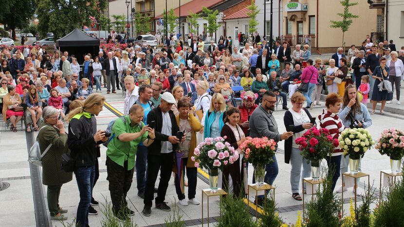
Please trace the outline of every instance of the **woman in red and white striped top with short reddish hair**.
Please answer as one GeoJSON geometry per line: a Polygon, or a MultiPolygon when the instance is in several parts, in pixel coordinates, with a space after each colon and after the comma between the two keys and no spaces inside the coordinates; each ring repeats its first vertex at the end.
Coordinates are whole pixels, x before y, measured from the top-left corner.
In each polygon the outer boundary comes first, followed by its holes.
{"type": "MultiPolygon", "coordinates": [[[[327,109],[323,109],[323,113],[318,116],[318,119],[320,120],[320,128],[328,129],[330,131],[330,135],[334,139],[338,139],[339,135],[342,131],[344,131],[345,128],[337,115],[341,103],[342,99],[339,95],[336,93],[329,94],[326,99],[327,109]]],[[[331,174],[331,170],[334,171],[332,176],[332,191],[334,191],[335,184],[340,175],[342,152],[342,149],[336,147],[331,157],[326,157],[329,174],[331,174]]]]}

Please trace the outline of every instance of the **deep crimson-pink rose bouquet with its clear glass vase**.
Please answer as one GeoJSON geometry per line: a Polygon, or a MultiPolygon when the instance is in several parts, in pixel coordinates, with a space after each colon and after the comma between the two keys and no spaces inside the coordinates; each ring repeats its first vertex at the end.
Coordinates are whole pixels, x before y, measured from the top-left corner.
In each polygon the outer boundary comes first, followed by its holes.
{"type": "Polygon", "coordinates": [[[312,179],[320,179],[321,159],[331,154],[335,147],[338,147],[338,139],[332,139],[326,128],[317,129],[312,127],[301,137],[295,140],[299,145],[300,154],[312,165],[312,179]]]}

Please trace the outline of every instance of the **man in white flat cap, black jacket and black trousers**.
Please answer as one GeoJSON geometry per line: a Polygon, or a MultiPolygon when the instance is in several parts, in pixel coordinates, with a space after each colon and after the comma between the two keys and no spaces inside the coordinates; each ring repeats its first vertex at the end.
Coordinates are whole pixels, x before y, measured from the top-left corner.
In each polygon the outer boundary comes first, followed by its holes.
{"type": "Polygon", "coordinates": [[[155,199],[156,208],[164,211],[171,211],[171,208],[164,202],[167,192],[168,181],[171,177],[174,162],[174,152],[178,149],[178,144],[183,138],[176,137],[180,130],[171,107],[176,101],[174,96],[165,92],[161,96],[161,104],[150,110],[147,115],[147,125],[154,128],[155,139],[148,147],[147,153],[147,179],[145,188],[145,199],[143,215],[151,215],[151,206],[154,199],[154,184],[160,170],[160,183],[157,197],[155,199]]]}

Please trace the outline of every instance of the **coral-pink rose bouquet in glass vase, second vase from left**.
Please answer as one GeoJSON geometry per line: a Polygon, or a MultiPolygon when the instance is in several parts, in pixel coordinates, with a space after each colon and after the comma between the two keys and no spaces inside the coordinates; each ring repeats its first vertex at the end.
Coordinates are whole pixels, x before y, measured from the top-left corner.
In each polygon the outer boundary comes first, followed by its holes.
{"type": "Polygon", "coordinates": [[[254,166],[256,185],[263,185],[265,164],[274,162],[272,157],[275,155],[276,150],[275,140],[268,140],[266,137],[247,137],[239,148],[244,151],[245,159],[254,166]]]}

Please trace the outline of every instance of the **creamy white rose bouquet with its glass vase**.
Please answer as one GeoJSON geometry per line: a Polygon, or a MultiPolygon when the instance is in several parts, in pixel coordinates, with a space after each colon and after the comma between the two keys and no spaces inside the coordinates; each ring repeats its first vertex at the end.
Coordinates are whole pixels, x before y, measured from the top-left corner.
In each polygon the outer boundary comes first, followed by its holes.
{"type": "Polygon", "coordinates": [[[347,128],[338,137],[339,147],[344,150],[344,157],[349,155],[349,171],[358,174],[359,159],[365,155],[375,141],[369,132],[363,128],[347,128]]]}

